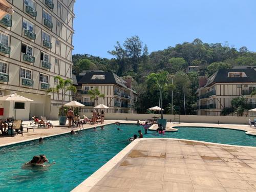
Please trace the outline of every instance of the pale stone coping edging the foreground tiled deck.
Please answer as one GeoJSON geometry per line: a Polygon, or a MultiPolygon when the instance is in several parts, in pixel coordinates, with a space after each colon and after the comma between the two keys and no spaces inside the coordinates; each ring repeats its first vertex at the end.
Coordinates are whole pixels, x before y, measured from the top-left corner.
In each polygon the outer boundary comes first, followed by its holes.
{"type": "Polygon", "coordinates": [[[102,165],[99,169],[96,170],[90,177],[86,180],[81,182],[77,185],[71,192],[88,192],[90,191],[106,174],[108,174],[112,168],[114,168],[123,158],[128,155],[132,149],[142,140],[176,140],[176,141],[194,141],[199,143],[206,143],[212,145],[221,145],[221,146],[231,146],[231,147],[242,147],[242,148],[256,148],[254,146],[241,146],[241,145],[229,145],[229,144],[222,144],[222,143],[212,143],[212,142],[205,142],[205,141],[197,141],[197,140],[189,140],[189,139],[174,139],[174,138],[143,138],[143,139],[136,139],[131,142],[129,145],[123,148],[118,154],[116,154],[112,159],[102,165]]]}

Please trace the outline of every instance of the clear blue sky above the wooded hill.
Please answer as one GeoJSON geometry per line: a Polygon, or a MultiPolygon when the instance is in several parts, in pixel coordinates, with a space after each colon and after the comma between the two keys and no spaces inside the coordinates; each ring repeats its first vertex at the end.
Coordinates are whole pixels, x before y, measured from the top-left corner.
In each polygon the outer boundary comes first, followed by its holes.
{"type": "Polygon", "coordinates": [[[255,9],[255,0],[76,0],[73,53],[111,58],[133,35],[150,52],[195,38],[256,51],[255,9]]]}

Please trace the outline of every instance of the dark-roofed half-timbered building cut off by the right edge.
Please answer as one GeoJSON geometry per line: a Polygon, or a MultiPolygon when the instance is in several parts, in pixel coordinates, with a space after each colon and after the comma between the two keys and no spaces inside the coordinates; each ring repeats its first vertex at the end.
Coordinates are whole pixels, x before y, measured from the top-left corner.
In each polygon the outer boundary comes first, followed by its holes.
{"type": "MultiPolygon", "coordinates": [[[[256,108],[256,71],[254,69],[220,69],[209,78],[201,76],[197,90],[197,115],[220,115],[224,108],[231,107],[231,100],[244,96],[250,109],[256,108]]],[[[237,116],[237,114],[230,114],[237,116]]],[[[245,111],[245,116],[256,113],[245,111]]]]}

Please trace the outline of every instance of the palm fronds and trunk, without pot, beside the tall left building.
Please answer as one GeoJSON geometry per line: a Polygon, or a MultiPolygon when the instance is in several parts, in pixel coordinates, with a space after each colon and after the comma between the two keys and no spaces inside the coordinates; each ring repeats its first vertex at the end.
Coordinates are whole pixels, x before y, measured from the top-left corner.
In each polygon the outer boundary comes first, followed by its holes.
{"type": "Polygon", "coordinates": [[[54,80],[58,80],[58,84],[55,88],[49,88],[46,91],[46,94],[49,93],[59,93],[61,94],[61,115],[64,116],[64,97],[67,91],[72,91],[76,93],[76,87],[73,86],[73,83],[70,79],[63,79],[60,76],[54,77],[54,80]]]}

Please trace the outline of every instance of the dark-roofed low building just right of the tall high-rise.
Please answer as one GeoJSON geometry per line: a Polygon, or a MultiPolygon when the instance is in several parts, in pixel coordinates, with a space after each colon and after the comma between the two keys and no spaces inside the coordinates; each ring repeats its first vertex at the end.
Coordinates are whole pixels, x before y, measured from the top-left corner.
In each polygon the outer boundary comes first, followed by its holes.
{"type": "Polygon", "coordinates": [[[136,113],[137,93],[132,87],[132,79],[122,79],[113,72],[86,72],[73,76],[77,93],[73,99],[85,106],[81,112],[91,112],[94,106],[104,104],[109,109],[105,113],[136,113]],[[98,89],[104,98],[92,99],[89,90],[98,89]]]}

